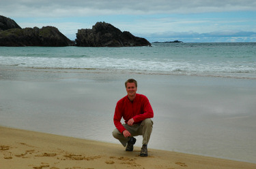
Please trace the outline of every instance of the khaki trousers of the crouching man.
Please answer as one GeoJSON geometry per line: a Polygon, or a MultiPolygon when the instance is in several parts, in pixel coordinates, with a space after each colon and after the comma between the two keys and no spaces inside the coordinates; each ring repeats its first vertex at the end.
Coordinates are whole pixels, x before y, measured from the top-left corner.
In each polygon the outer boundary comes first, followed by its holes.
{"type": "MultiPolygon", "coordinates": [[[[147,145],[147,143],[150,140],[150,135],[153,129],[152,119],[144,119],[143,121],[141,121],[141,123],[134,124],[132,126],[129,126],[128,124],[123,124],[123,126],[124,128],[126,128],[126,130],[128,130],[128,132],[130,132],[130,134],[132,134],[132,136],[142,135],[142,144],[147,145]]],[[[122,143],[122,145],[124,145],[124,147],[126,147],[127,142],[130,140],[130,137],[124,137],[124,135],[121,132],[119,132],[117,128],[113,130],[112,134],[115,138],[117,138],[117,140],[119,140],[122,143]]]]}

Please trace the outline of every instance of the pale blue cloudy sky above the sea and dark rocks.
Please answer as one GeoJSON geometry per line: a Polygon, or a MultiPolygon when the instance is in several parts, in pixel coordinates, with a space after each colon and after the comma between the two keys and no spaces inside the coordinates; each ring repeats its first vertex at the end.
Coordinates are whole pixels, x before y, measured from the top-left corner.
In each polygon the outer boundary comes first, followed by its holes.
{"type": "Polygon", "coordinates": [[[255,0],[0,0],[0,15],[71,40],[107,22],[150,42],[256,42],[255,0]]]}

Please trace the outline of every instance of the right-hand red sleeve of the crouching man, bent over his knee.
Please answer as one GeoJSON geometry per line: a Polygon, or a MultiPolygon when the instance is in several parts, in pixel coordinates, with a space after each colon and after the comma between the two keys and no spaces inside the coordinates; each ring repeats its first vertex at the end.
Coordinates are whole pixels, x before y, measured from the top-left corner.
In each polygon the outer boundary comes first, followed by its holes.
{"type": "Polygon", "coordinates": [[[150,105],[150,101],[145,97],[143,99],[143,113],[139,115],[135,115],[133,117],[134,122],[138,123],[139,121],[143,121],[147,118],[153,118],[154,117],[154,111],[150,105]]]}

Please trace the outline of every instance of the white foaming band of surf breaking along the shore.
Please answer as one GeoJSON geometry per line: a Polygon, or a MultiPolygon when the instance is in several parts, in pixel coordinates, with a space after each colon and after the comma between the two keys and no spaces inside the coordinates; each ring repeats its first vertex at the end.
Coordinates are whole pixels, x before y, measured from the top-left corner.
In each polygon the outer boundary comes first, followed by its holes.
{"type": "Polygon", "coordinates": [[[129,71],[160,71],[182,73],[256,73],[253,65],[236,63],[177,62],[173,60],[145,60],[128,58],[37,58],[8,57],[2,65],[52,69],[113,69],[129,71]]]}

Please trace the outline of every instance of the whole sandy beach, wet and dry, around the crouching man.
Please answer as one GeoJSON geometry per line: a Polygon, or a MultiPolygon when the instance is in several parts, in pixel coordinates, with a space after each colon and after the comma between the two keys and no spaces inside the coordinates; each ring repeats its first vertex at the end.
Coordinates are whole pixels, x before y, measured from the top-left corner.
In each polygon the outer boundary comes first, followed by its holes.
{"type": "Polygon", "coordinates": [[[1,128],[1,169],[8,165],[238,168],[239,164],[249,168],[240,162],[255,166],[253,79],[0,68],[0,126],[20,129],[1,128]],[[126,94],[124,81],[130,77],[139,81],[138,93],[150,99],[155,112],[147,159],[138,157],[141,137],[135,151],[127,153],[111,134],[115,104],[126,94]]]}

